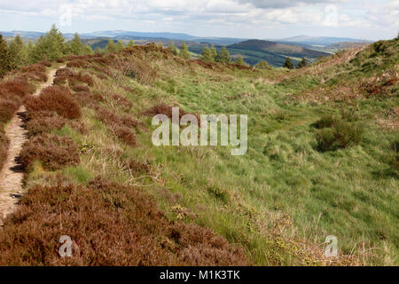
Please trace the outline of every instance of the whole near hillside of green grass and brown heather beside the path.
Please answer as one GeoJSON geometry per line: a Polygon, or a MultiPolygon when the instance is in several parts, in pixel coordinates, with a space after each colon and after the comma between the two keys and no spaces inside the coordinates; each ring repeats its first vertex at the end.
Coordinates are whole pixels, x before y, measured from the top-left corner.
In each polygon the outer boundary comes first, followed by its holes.
{"type": "MultiPolygon", "coordinates": [[[[229,49],[323,54],[258,41],[229,49]]],[[[8,74],[0,155],[26,106],[27,193],[4,219],[0,265],[397,265],[398,51],[398,39],[380,41],[263,70],[148,44],[8,74]],[[170,118],[172,106],[179,117],[247,114],[247,153],[154,146],[153,116],[170,118]],[[59,256],[61,235],[72,257],[59,256]],[[325,257],[329,235],[338,257],[325,257]]]]}

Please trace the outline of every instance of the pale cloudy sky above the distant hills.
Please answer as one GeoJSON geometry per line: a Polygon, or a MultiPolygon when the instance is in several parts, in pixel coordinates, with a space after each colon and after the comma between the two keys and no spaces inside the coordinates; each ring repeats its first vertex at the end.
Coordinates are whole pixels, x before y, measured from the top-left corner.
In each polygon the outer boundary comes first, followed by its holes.
{"type": "Polygon", "coordinates": [[[98,30],[192,36],[340,36],[378,40],[399,31],[399,0],[0,0],[0,30],[98,30]]]}

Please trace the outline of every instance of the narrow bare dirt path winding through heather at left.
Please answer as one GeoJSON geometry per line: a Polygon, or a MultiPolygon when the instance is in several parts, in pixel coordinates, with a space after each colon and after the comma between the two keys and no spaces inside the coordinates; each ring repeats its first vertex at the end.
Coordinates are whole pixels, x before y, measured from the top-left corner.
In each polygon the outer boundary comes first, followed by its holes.
{"type": "MultiPolygon", "coordinates": [[[[51,70],[46,83],[43,83],[34,96],[50,86],[54,80],[57,69],[51,70]]],[[[18,162],[22,145],[27,141],[27,130],[23,122],[23,114],[26,112],[25,106],[20,106],[17,114],[5,129],[5,135],[10,140],[10,147],[7,152],[7,158],[4,167],[0,170],[0,226],[2,217],[7,216],[15,209],[19,198],[25,193],[22,187],[23,170],[18,162]]]]}

